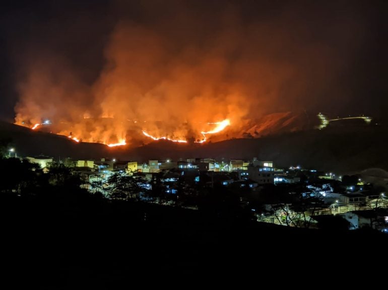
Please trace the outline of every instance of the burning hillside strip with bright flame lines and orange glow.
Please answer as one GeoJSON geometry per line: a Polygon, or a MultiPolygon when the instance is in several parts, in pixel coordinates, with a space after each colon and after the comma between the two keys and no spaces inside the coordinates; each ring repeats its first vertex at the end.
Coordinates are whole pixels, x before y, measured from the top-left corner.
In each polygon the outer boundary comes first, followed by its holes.
{"type": "Polygon", "coordinates": [[[109,147],[126,144],[137,146],[160,139],[177,143],[204,143],[208,140],[260,137],[271,133],[297,131],[309,126],[305,114],[291,112],[269,114],[260,119],[239,123],[236,130],[229,119],[220,122],[177,122],[173,131],[169,131],[169,123],[161,121],[115,118],[82,118],[79,123],[45,120],[35,124],[24,122],[22,125],[33,130],[65,135],[76,142],[104,143],[109,147]]]}

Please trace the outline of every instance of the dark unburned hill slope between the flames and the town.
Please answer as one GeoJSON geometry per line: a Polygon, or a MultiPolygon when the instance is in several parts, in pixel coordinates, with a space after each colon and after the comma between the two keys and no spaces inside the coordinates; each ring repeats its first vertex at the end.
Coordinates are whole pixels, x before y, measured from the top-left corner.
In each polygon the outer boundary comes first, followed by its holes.
{"type": "Polygon", "coordinates": [[[65,136],[0,124],[0,139],[11,140],[22,156],[39,154],[58,158],[114,157],[138,162],[165,158],[236,158],[273,160],[278,167],[300,165],[320,170],[388,170],[386,126],[336,126],[204,144],[154,141],[142,147],[109,148],[97,143],[76,143],[65,136]]]}

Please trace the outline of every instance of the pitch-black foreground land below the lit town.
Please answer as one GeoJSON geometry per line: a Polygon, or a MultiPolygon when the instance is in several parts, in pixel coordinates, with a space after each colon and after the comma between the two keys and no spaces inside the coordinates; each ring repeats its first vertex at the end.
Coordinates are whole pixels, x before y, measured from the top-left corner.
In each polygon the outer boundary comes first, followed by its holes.
{"type": "Polygon", "coordinates": [[[187,283],[273,274],[303,278],[354,267],[375,275],[388,250],[387,237],[369,230],[292,229],[99,198],[2,199],[2,271],[9,288],[128,288],[139,280],[146,286],[182,277],[187,283]]]}

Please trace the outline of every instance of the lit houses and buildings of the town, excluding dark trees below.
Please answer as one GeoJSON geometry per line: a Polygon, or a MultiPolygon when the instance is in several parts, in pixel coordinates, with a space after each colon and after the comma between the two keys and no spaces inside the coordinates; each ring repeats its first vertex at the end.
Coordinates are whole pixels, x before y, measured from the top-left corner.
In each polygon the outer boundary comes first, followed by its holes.
{"type": "MultiPolygon", "coordinates": [[[[43,169],[53,161],[52,158],[39,156],[28,157],[31,162],[38,163],[43,169]]],[[[200,181],[209,186],[214,185],[233,187],[236,192],[248,187],[254,193],[263,190],[273,190],[273,197],[264,201],[262,208],[252,207],[257,221],[287,226],[313,225],[325,216],[339,215],[348,223],[350,229],[364,226],[387,231],[388,213],[376,209],[388,208],[388,198],[385,192],[370,190],[370,185],[360,182],[354,186],[342,186],[339,178],[333,174],[316,170],[304,170],[299,167],[278,169],[272,161],[260,161],[256,158],[245,161],[239,159],[215,160],[212,158],[190,158],[180,160],[149,160],[138,163],[136,161],[120,161],[115,159],[100,160],[63,160],[62,163],[74,168],[84,180],[84,186],[93,190],[96,182],[106,182],[115,172],[125,175],[141,176],[142,180],[151,187],[151,181],[156,174],[162,174],[162,182],[169,184],[166,192],[174,194],[173,184],[184,180],[191,186],[200,181]],[[204,181],[205,180],[205,181],[204,181]],[[276,195],[277,188],[285,189],[289,195],[276,195]],[[299,188],[294,192],[295,188],[299,188]],[[315,201],[307,207],[296,210],[293,200],[314,197],[315,201]],[[319,202],[317,202],[319,200],[319,202]],[[301,219],[303,216],[303,219],[301,219]],[[306,216],[308,217],[306,220],[306,216]]],[[[242,199],[245,206],[249,200],[242,199]]]]}

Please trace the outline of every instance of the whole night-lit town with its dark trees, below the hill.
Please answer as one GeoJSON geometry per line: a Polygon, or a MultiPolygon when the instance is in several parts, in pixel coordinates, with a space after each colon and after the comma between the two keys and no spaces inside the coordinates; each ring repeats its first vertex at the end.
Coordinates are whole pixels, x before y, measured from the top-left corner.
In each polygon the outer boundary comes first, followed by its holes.
{"type": "MultiPolygon", "coordinates": [[[[276,168],[272,161],[257,158],[54,160],[20,158],[14,149],[8,151],[3,162],[28,161],[30,170],[41,175],[66,170],[80,188],[107,200],[206,208],[220,216],[297,228],[388,231],[385,187],[360,175],[341,176],[302,165],[276,168]]],[[[2,191],[26,194],[20,183],[2,191]]]]}

